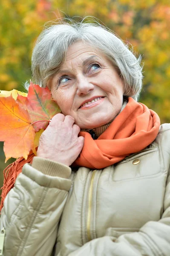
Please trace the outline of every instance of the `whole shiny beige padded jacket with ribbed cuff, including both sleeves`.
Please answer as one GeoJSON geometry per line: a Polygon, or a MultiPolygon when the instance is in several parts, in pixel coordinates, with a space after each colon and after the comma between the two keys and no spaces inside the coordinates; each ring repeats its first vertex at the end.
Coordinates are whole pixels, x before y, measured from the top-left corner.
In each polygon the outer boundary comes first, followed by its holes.
{"type": "Polygon", "coordinates": [[[170,256],[170,124],[103,170],[35,157],[6,197],[2,227],[3,256],[170,256]]]}

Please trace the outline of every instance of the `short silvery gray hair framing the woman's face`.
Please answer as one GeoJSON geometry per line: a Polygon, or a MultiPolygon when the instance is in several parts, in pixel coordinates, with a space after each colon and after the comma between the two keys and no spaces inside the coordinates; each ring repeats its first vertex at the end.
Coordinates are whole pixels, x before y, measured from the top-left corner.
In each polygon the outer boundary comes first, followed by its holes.
{"type": "MultiPolygon", "coordinates": [[[[76,41],[101,51],[124,81],[124,95],[138,100],[143,78],[141,55],[135,57],[133,49],[129,49],[114,32],[97,21],[84,23],[61,19],[46,26],[37,38],[32,53],[33,82],[41,87],[50,87],[50,81],[60,70],[69,46],[76,41]]],[[[27,83],[25,87],[28,88],[27,83]]]]}

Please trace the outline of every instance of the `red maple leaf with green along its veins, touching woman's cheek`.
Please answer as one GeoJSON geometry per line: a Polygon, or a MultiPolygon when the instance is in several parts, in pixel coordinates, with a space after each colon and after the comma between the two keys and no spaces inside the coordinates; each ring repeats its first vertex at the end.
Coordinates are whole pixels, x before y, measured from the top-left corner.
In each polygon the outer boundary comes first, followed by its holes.
{"type": "Polygon", "coordinates": [[[49,120],[61,110],[52,99],[48,88],[42,88],[38,84],[30,83],[27,98],[18,95],[17,101],[29,112],[35,131],[46,129],[49,120]],[[42,121],[43,122],[38,122],[42,121]]]}

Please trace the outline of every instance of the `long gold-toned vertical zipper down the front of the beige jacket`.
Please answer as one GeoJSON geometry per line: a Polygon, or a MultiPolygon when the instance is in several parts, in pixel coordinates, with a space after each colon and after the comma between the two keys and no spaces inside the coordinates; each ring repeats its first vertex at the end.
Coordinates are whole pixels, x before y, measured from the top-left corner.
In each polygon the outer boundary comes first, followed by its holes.
{"type": "Polygon", "coordinates": [[[91,217],[92,217],[92,192],[93,192],[93,183],[94,183],[94,177],[95,177],[95,171],[92,173],[92,177],[90,180],[90,186],[89,186],[89,194],[88,194],[88,209],[87,209],[87,239],[88,241],[92,240],[91,234],[90,234],[90,223],[91,223],[91,217]]]}

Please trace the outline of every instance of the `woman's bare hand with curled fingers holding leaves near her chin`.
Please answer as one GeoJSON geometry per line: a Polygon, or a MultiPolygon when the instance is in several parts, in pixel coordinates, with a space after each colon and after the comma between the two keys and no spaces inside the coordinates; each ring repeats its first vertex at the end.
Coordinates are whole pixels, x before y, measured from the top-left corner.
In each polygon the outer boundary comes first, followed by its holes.
{"type": "Polygon", "coordinates": [[[84,137],[78,137],[80,127],[72,116],[55,115],[41,134],[37,157],[70,166],[80,154],[84,137]]]}

